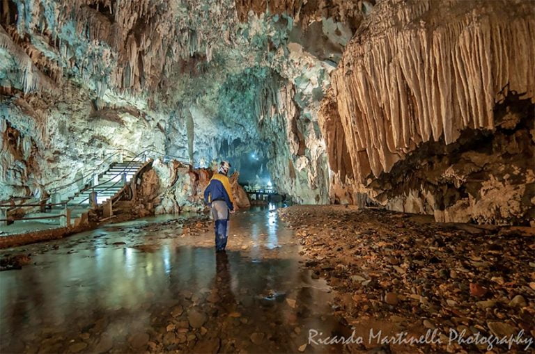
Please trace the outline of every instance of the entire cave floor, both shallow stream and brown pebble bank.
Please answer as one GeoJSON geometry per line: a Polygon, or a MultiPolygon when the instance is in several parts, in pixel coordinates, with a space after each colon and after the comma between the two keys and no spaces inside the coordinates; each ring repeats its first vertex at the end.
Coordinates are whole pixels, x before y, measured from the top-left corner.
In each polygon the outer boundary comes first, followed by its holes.
{"type": "Polygon", "coordinates": [[[451,333],[535,337],[534,241],[343,206],[240,211],[218,255],[206,216],[104,225],[0,251],[0,353],[486,353],[451,333]]]}

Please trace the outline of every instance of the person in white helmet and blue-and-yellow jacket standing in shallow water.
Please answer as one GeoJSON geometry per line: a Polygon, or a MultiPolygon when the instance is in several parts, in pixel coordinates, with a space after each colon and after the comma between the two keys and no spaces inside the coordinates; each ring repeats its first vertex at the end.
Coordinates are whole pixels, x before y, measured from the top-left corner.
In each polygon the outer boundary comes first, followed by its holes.
{"type": "Polygon", "coordinates": [[[234,211],[234,198],[232,196],[231,182],[228,181],[228,170],[231,164],[222,161],[217,173],[210,179],[210,184],[204,191],[204,200],[212,208],[212,216],[215,221],[215,250],[225,250],[228,234],[229,214],[234,211]]]}

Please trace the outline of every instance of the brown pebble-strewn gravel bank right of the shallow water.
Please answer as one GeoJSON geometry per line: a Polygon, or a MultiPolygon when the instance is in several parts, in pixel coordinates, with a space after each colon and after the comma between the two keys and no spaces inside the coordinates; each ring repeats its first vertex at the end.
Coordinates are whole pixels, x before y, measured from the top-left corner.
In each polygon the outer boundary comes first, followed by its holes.
{"type": "Polygon", "coordinates": [[[389,321],[417,336],[436,329],[443,343],[423,350],[449,353],[486,352],[486,345],[446,346],[451,330],[535,337],[533,228],[437,224],[343,206],[279,214],[295,227],[307,266],[336,290],[333,306],[348,325],[389,321]]]}

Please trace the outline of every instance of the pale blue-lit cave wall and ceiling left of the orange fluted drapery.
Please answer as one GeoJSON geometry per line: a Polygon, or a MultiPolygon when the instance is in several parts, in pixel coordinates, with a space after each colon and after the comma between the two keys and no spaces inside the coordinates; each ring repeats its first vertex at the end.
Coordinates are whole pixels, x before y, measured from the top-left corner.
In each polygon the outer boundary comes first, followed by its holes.
{"type": "Polygon", "coordinates": [[[204,167],[258,152],[281,193],[328,202],[319,104],[373,1],[3,3],[0,200],[150,147],[204,167]]]}

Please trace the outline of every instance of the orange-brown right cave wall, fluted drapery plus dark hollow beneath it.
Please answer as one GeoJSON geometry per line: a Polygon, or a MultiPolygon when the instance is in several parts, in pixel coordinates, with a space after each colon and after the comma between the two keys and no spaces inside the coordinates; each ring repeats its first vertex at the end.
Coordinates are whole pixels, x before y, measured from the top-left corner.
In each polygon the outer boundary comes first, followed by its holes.
{"type": "Polygon", "coordinates": [[[321,108],[332,201],[533,221],[534,15],[522,1],[378,3],[321,108]]]}

